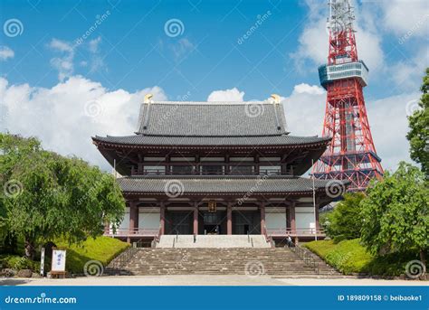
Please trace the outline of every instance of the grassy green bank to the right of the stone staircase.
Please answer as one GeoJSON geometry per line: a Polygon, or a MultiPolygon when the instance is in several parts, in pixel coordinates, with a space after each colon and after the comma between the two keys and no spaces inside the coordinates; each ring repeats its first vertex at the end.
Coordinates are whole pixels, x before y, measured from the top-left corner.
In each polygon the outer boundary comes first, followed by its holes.
{"type": "Polygon", "coordinates": [[[394,253],[376,257],[360,244],[359,239],[311,241],[304,245],[329,265],[342,273],[365,273],[374,276],[399,276],[404,274],[408,261],[416,258],[413,254],[394,253]]]}

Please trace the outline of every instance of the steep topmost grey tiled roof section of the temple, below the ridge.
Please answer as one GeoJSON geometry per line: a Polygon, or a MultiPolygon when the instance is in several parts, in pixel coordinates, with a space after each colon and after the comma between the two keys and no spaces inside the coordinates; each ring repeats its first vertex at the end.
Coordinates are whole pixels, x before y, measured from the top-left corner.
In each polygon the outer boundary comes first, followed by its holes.
{"type": "Polygon", "coordinates": [[[271,102],[143,103],[137,133],[145,136],[280,136],[281,104],[271,102]]]}

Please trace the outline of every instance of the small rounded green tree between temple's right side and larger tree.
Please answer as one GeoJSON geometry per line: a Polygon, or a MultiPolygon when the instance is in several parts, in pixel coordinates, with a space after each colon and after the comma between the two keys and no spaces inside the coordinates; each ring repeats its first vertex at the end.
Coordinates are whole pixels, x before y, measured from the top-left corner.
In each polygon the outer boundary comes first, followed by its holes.
{"type": "Polygon", "coordinates": [[[335,209],[327,216],[325,223],[328,234],[334,239],[341,240],[359,238],[362,228],[360,202],[365,195],[346,193],[343,197],[344,200],[338,202],[335,209]]]}

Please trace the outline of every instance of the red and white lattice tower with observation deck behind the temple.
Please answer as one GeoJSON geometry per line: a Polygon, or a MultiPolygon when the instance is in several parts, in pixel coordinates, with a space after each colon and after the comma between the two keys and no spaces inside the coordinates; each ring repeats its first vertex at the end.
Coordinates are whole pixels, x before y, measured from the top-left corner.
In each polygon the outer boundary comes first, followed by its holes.
{"type": "Polygon", "coordinates": [[[319,179],[351,181],[351,192],[383,175],[367,120],[362,89],[368,69],[358,60],[354,19],[349,0],[329,1],[328,64],[319,67],[319,80],[328,92],[322,136],[332,136],[332,142],[312,172],[319,179]]]}

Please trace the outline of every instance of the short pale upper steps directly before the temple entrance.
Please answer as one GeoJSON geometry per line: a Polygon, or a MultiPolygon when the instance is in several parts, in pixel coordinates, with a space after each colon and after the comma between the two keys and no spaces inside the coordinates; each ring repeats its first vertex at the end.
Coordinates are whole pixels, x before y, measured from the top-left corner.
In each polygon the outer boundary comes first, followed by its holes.
{"type": "Polygon", "coordinates": [[[163,235],[157,243],[159,249],[229,249],[229,248],[270,248],[262,235],[163,235]]]}

